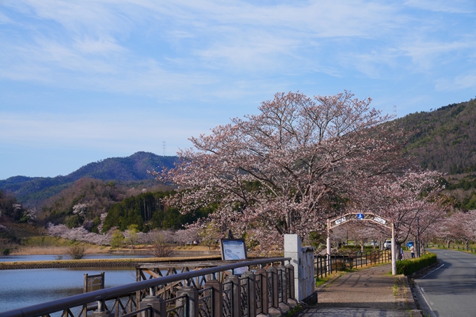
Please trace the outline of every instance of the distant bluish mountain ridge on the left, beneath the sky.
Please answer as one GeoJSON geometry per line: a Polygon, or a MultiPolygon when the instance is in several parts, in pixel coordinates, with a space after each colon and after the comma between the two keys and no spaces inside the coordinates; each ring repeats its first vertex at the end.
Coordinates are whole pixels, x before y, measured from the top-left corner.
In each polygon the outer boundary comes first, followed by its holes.
{"type": "Polygon", "coordinates": [[[66,176],[27,177],[13,176],[0,181],[0,190],[13,192],[25,206],[35,206],[71,186],[80,178],[95,178],[103,181],[153,181],[147,170],[160,171],[162,167],[173,168],[176,156],[159,156],[137,152],[129,157],[111,157],[92,162],[66,176]]]}

